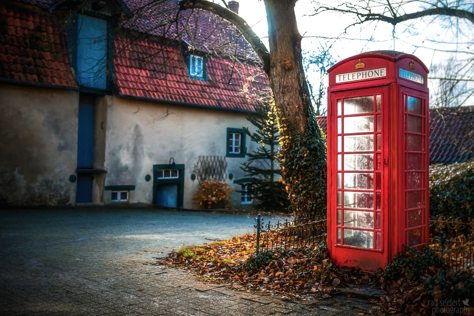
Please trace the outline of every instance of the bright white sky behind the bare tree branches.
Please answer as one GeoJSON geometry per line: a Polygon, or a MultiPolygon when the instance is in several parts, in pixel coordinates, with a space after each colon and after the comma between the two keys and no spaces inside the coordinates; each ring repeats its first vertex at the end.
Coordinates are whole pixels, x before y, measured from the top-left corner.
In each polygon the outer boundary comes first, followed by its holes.
{"type": "MultiPolygon", "coordinates": [[[[218,0],[214,1],[218,2],[218,0]]],[[[239,15],[252,26],[255,33],[268,47],[268,27],[264,2],[262,0],[239,0],[238,2],[240,5],[239,15]]],[[[333,5],[337,3],[336,0],[327,0],[326,2],[333,5]]],[[[412,7],[406,9],[417,10],[420,2],[412,3],[412,7]]],[[[396,50],[416,55],[431,71],[439,63],[446,63],[446,61],[453,59],[472,58],[472,54],[474,54],[472,24],[466,23],[462,19],[451,19],[450,21],[459,23],[459,27],[446,27],[446,19],[443,21],[440,18],[410,20],[398,24],[395,29],[386,22],[372,22],[350,27],[347,33],[343,34],[344,28],[354,22],[353,17],[338,12],[325,12],[310,16],[314,13],[314,2],[310,0],[299,0],[295,11],[298,29],[304,36],[301,42],[303,50],[316,50],[319,45],[332,45],[330,53],[336,61],[368,51],[396,50]],[[395,31],[395,37],[392,36],[393,31],[395,31]],[[318,37],[340,37],[341,35],[345,38],[324,39],[318,37]],[[373,40],[367,40],[371,38],[373,40]],[[463,44],[447,44],[452,42],[463,44]],[[463,50],[470,54],[447,53],[443,50],[463,50]]],[[[308,73],[308,78],[316,84],[319,82],[316,73],[308,73]]],[[[327,84],[327,76],[324,80],[327,84]]],[[[434,90],[436,84],[438,81],[428,79],[430,90],[434,90]]],[[[474,97],[464,105],[474,105],[474,97]]]]}

